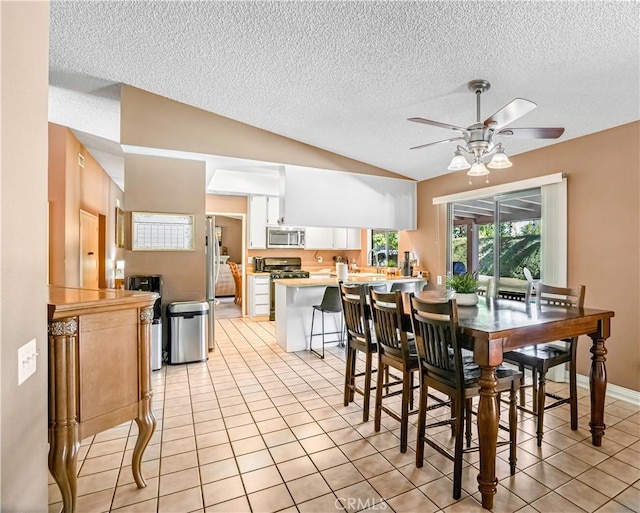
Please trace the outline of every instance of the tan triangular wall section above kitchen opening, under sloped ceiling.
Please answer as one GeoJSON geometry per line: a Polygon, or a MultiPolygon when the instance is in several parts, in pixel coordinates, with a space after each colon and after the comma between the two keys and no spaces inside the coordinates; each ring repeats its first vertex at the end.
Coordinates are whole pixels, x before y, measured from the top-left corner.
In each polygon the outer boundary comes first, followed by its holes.
{"type": "Polygon", "coordinates": [[[124,144],[406,178],[131,86],[120,97],[124,144]]]}

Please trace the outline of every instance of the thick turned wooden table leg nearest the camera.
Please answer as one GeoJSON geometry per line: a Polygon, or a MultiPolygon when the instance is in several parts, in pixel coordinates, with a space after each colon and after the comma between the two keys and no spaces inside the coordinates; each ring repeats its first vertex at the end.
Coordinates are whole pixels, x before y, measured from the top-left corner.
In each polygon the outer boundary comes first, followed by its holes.
{"type": "Polygon", "coordinates": [[[496,445],[498,442],[498,404],[495,367],[481,367],[478,380],[480,385],[480,404],[478,406],[478,443],[480,445],[480,474],[478,490],[482,494],[482,507],[493,508],[493,496],[496,494],[496,445]]]}

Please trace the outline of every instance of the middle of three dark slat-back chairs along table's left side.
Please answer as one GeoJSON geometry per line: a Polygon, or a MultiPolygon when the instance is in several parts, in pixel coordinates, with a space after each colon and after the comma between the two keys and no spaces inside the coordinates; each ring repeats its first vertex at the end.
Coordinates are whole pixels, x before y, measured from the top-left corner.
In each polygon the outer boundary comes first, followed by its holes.
{"type": "Polygon", "coordinates": [[[413,343],[413,335],[403,325],[402,292],[369,291],[371,317],[378,343],[378,376],[376,382],[376,404],[374,429],[380,431],[382,412],[400,422],[400,452],[407,451],[409,415],[417,413],[413,409],[413,374],[418,370],[418,355],[413,343]],[[383,374],[389,367],[402,375],[383,382],[383,374]],[[400,390],[392,387],[401,385],[400,390]],[[402,394],[400,415],[383,404],[383,400],[402,394]],[[411,411],[410,411],[411,410],[411,411]]]}

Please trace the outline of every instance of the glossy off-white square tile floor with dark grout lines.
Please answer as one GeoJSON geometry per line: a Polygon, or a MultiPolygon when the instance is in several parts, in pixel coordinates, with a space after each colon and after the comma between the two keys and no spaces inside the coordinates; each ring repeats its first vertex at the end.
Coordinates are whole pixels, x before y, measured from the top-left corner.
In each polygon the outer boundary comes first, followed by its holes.
{"type": "MultiPolygon", "coordinates": [[[[484,511],[477,453],[468,455],[462,498],[454,501],[448,460],[427,448],[416,468],[415,428],[401,454],[396,421],[383,415],[376,433],[372,418],[362,422],[361,397],[343,406],[342,349],[325,360],[287,354],[273,323],[220,319],[217,326],[206,363],[153,373],[158,425],[144,455],[146,488],[131,475],[134,422],[82,442],[79,513],[484,511]]],[[[579,430],[569,428],[565,408],[551,410],[542,448],[534,422],[520,417],[518,472],[509,476],[502,451],[493,511],[640,512],[640,408],[608,402],[596,448],[588,391],[580,394],[579,430]]],[[[49,511],[60,511],[52,480],[49,497],[49,511]]]]}

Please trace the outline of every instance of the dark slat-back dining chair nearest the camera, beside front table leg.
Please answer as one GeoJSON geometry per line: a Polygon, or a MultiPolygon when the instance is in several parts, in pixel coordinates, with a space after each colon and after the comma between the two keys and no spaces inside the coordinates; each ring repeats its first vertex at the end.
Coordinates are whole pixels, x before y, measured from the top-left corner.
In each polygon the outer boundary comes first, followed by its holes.
{"type": "MultiPolygon", "coordinates": [[[[438,451],[453,461],[453,498],[459,499],[462,493],[463,454],[477,451],[471,446],[469,436],[472,418],[473,398],[479,396],[480,368],[473,362],[465,362],[462,348],[458,340],[458,308],[455,299],[448,301],[424,301],[413,294],[410,296],[411,321],[415,334],[416,349],[420,377],[420,401],[418,406],[418,435],[416,445],[416,466],[422,467],[424,462],[424,444],[438,451]],[[427,423],[429,387],[452,398],[452,415],[448,419],[434,419],[427,423]],[[453,427],[455,444],[453,452],[444,445],[442,434],[428,437],[426,431],[441,428],[445,425],[453,427]],[[463,430],[467,426],[466,447],[464,447],[463,430]]],[[[509,466],[511,475],[516,470],[516,432],[517,409],[516,394],[520,385],[520,373],[516,370],[498,367],[496,390],[509,392],[509,425],[498,427],[509,432],[509,440],[499,440],[498,446],[509,445],[509,466]]],[[[496,400],[499,407],[499,401],[496,400]]]]}

